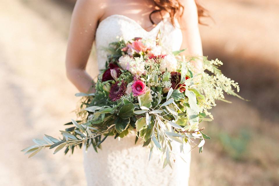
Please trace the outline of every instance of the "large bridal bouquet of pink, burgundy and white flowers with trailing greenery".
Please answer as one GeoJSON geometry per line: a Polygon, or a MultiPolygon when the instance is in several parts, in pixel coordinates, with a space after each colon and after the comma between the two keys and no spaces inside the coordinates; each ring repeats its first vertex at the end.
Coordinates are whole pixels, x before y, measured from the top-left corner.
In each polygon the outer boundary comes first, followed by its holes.
{"type": "Polygon", "coordinates": [[[186,143],[194,143],[202,152],[210,137],[199,123],[211,121],[208,110],[216,105],[215,100],[225,101],[224,92],[238,96],[233,88],[238,92],[239,86],[221,73],[218,59],[186,58],[179,55],[183,50],[168,53],[163,48],[159,40],[142,38],[111,43],[96,93],[76,94],[82,96],[80,120],[66,124],[74,126],[60,131],[60,139],[45,135],[22,151],[31,153],[29,157],[46,147],[56,148],[54,154],[63,148],[67,153],[82,144],[97,151],[108,136],[135,133],[135,143],[143,140],[143,146],[150,147],[150,157],[153,148],[161,152],[164,167],[174,161],[173,141],[180,143],[181,151],[186,143]],[[195,70],[195,60],[203,62],[202,70],[195,70]]]}

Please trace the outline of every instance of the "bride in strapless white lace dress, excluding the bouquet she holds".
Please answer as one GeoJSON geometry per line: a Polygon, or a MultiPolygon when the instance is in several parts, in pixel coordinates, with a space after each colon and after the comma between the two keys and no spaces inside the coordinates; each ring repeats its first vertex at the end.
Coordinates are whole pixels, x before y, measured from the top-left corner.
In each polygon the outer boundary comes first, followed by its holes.
{"type": "MultiPolygon", "coordinates": [[[[98,69],[105,68],[107,51],[117,37],[128,41],[134,37],[160,41],[165,50],[187,49],[184,55],[202,56],[198,15],[203,13],[194,0],[78,0],[74,8],[66,56],[67,77],[80,92],[94,92],[92,77],[85,67],[95,41],[98,69]],[[198,7],[198,8],[197,8],[198,7]]],[[[199,63],[194,64],[199,68],[199,63]]],[[[135,134],[108,137],[96,153],[84,149],[84,168],[89,186],[188,185],[191,149],[185,145],[180,153],[173,142],[176,162],[173,169],[149,160],[149,150],[135,144],[135,134]]]]}

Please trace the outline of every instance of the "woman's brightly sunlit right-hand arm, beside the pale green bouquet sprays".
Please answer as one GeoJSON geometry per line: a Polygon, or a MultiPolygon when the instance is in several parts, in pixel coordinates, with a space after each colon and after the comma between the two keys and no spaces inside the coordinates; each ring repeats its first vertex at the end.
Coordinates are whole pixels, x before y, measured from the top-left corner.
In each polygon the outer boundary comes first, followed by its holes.
{"type": "MultiPolygon", "coordinates": [[[[185,56],[203,56],[196,3],[194,0],[182,0],[181,3],[184,6],[184,12],[180,19],[183,34],[181,49],[186,49],[183,54],[185,56]]],[[[196,70],[201,70],[201,60],[192,61],[192,63],[196,70]]]]}

